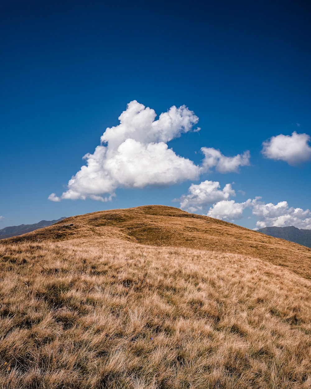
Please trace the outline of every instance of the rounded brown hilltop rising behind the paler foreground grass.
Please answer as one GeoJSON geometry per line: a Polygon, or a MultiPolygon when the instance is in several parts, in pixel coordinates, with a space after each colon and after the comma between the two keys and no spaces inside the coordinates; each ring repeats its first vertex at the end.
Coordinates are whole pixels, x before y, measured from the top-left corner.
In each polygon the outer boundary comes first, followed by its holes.
{"type": "Polygon", "coordinates": [[[119,238],[128,242],[206,249],[261,258],[311,278],[311,249],[211,217],[164,205],[68,217],[9,242],[119,238]],[[72,224],[71,226],[68,224],[72,224]]]}

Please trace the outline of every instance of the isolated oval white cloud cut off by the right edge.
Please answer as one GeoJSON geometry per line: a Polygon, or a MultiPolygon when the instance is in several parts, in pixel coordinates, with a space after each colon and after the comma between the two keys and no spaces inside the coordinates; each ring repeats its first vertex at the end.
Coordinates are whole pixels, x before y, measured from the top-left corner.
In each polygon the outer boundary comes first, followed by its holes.
{"type": "Polygon", "coordinates": [[[296,131],[292,135],[280,134],[263,142],[262,154],[266,158],[282,160],[289,165],[297,165],[311,159],[309,141],[309,135],[297,134],[296,131]]]}

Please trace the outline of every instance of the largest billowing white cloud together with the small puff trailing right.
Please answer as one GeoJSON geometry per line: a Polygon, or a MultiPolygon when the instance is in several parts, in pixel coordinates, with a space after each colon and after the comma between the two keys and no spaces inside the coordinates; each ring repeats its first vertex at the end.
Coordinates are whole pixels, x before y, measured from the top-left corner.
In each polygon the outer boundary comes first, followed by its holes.
{"type": "Polygon", "coordinates": [[[51,193],[49,200],[109,201],[118,187],[176,184],[197,179],[213,167],[227,173],[237,172],[239,166],[248,164],[249,152],[225,157],[219,150],[202,147],[204,159],[198,166],[170,149],[167,145],[170,140],[200,130],[193,130],[199,118],[185,105],[173,106],[160,114],[158,120],[155,118],[153,109],[136,100],[128,103],[119,116],[120,124],[107,128],[95,152],[83,157],[86,165],[69,180],[67,191],[61,196],[51,193]]]}

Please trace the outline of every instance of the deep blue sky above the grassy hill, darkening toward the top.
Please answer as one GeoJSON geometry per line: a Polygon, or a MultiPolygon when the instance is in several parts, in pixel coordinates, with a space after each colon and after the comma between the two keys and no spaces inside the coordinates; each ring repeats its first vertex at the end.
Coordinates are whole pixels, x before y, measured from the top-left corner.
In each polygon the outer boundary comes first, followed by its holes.
{"type": "MultiPolygon", "coordinates": [[[[257,227],[311,228],[309,140],[291,136],[311,134],[307,5],[202,3],[1,3],[0,228],[152,203],[179,207],[185,199],[193,212],[211,212],[248,228],[258,222],[257,227]],[[164,142],[176,158],[193,161],[197,176],[188,164],[174,183],[159,165],[160,178],[155,182],[147,172],[138,187],[133,178],[120,181],[124,169],[121,174],[114,168],[111,201],[48,200],[51,193],[66,193],[71,177],[86,164],[82,157],[94,153],[105,129],[118,126],[134,100],[157,115],[185,105],[199,118],[192,128],[200,131],[181,130],[180,137],[164,142]],[[215,163],[203,168],[201,147],[225,157],[248,150],[250,158],[235,166],[237,172],[221,172],[215,163]],[[214,196],[212,184],[200,186],[206,181],[219,182],[214,196]],[[187,198],[192,184],[211,202],[187,198]],[[223,191],[226,184],[231,192],[223,191]],[[214,207],[220,201],[227,203],[214,207]]],[[[156,152],[149,157],[158,158],[156,152]]]]}

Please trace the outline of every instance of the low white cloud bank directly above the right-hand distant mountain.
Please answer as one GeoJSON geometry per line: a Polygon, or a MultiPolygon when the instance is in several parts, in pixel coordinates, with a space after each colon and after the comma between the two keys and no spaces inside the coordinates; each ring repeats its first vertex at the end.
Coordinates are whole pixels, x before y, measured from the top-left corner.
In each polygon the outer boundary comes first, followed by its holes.
{"type": "Polygon", "coordinates": [[[259,219],[256,223],[257,228],[295,226],[311,229],[311,211],[289,207],[286,201],[265,204],[257,198],[253,200],[252,213],[259,219]]]}

